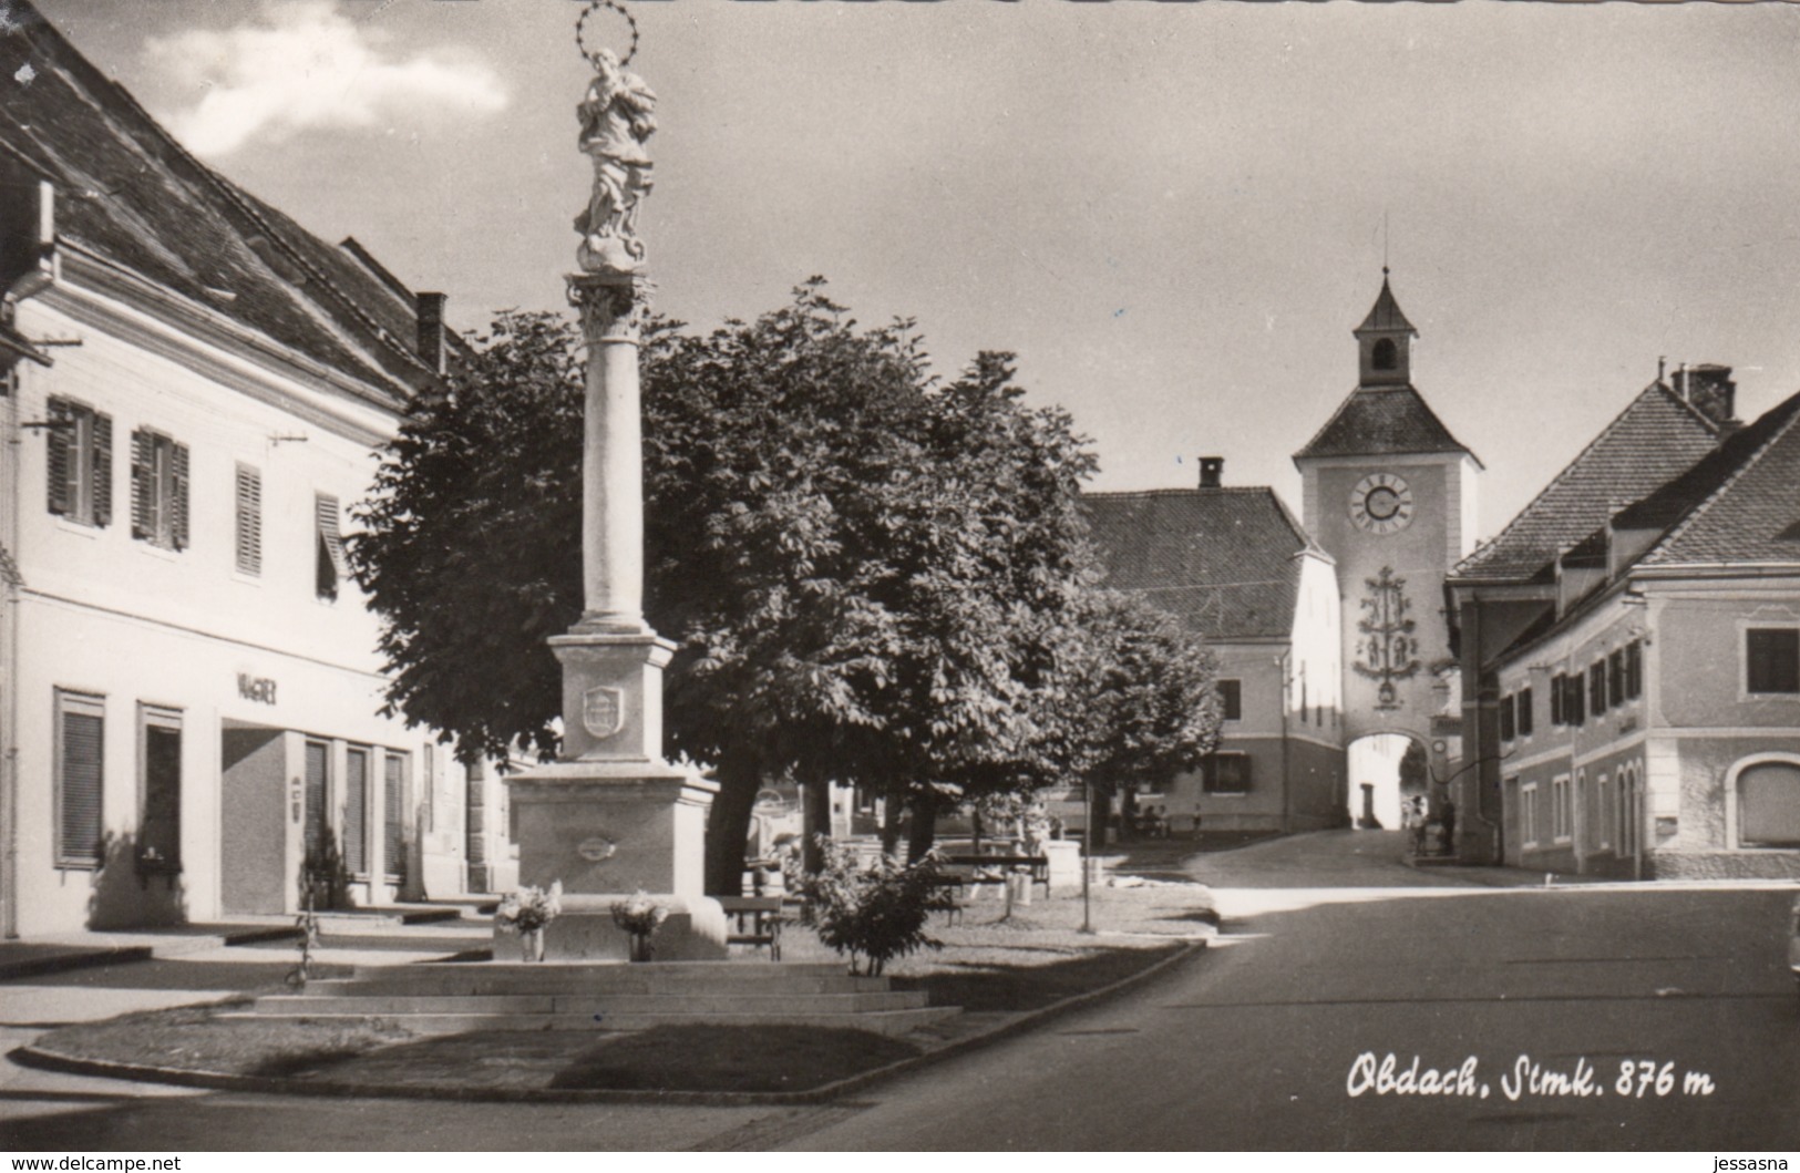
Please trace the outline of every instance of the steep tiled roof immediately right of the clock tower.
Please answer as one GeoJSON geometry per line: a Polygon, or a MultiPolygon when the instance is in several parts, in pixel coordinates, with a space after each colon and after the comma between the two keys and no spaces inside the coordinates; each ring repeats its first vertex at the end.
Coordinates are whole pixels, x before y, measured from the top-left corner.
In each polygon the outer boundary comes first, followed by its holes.
{"type": "Polygon", "coordinates": [[[1456,565],[1456,578],[1532,579],[1557,551],[1588,538],[1712,452],[1719,430],[1667,385],[1645,387],[1499,536],[1456,565]]]}

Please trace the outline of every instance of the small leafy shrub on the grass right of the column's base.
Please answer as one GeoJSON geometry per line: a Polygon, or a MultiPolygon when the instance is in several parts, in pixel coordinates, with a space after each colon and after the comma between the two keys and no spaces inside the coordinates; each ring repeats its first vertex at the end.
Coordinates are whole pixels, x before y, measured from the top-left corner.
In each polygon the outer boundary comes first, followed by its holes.
{"type": "Polygon", "coordinates": [[[862,865],[851,847],[819,837],[824,865],[814,876],[796,876],[792,887],[806,898],[803,921],[839,954],[850,954],[850,972],[880,977],[893,957],[940,948],[925,936],[925,918],[936,898],[936,853],[914,864],[882,855],[862,865]]]}

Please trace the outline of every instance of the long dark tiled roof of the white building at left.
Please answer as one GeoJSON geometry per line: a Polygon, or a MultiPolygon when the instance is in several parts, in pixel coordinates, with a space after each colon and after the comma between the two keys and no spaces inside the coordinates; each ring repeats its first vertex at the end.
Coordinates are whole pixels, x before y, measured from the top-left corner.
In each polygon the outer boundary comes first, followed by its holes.
{"type": "Polygon", "coordinates": [[[25,0],[11,0],[0,167],[56,185],[56,230],[398,405],[430,372],[412,306],[353,257],[200,164],[25,0]]]}

